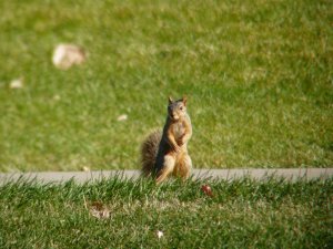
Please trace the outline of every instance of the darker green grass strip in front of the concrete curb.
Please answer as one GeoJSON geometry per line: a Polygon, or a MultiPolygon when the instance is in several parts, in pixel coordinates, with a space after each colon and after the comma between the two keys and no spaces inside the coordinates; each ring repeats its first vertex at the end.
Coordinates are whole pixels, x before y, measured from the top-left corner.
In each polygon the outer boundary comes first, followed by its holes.
{"type": "Polygon", "coordinates": [[[1,248],[332,248],[333,178],[0,187],[1,248]],[[201,191],[209,184],[213,197],[201,191]],[[99,201],[110,217],[90,214],[99,201]],[[163,237],[158,238],[157,231],[163,237]]]}

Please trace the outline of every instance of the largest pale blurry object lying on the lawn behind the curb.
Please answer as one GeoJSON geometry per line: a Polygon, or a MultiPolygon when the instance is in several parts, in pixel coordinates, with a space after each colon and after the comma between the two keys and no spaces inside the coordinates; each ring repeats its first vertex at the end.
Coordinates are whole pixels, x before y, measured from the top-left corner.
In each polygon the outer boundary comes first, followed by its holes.
{"type": "Polygon", "coordinates": [[[73,65],[82,64],[85,58],[82,48],[73,44],[59,44],[53,51],[52,62],[58,69],[68,70],[73,65]]]}

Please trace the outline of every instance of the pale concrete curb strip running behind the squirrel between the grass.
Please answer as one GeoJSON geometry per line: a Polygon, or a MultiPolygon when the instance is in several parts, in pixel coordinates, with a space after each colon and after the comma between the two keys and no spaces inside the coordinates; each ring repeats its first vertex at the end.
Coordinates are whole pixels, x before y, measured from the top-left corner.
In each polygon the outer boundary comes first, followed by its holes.
{"type": "MultiPolygon", "coordinates": [[[[250,177],[263,180],[268,177],[283,177],[286,180],[297,179],[326,179],[333,177],[333,168],[238,168],[238,169],[194,169],[193,178],[201,179],[225,179],[233,180],[242,177],[250,177]]],[[[40,173],[7,173],[0,174],[0,185],[18,179],[32,180],[40,183],[63,183],[73,179],[77,183],[101,180],[121,176],[128,179],[138,179],[140,170],[100,170],[100,172],[40,172],[40,173]]]]}

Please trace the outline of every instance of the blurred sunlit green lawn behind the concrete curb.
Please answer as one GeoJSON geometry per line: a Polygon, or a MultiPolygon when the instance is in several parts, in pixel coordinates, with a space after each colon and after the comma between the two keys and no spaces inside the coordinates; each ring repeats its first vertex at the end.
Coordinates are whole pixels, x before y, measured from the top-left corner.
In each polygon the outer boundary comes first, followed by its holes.
{"type": "Polygon", "coordinates": [[[168,96],[183,94],[195,167],[333,165],[330,0],[11,0],[0,11],[1,172],[138,168],[168,96]],[[57,70],[62,42],[85,48],[87,63],[57,70]],[[9,87],[17,77],[24,89],[9,87]]]}

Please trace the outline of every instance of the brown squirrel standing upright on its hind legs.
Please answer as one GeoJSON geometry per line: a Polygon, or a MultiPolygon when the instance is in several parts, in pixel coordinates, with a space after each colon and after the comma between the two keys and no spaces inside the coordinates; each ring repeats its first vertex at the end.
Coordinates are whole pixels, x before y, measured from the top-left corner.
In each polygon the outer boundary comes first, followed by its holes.
{"type": "Polygon", "coordinates": [[[186,113],[186,97],[173,101],[169,97],[167,122],[161,131],[152,132],[141,146],[141,164],[144,176],[155,177],[157,184],[170,175],[189,178],[192,160],[188,143],[192,125],[186,113]]]}

